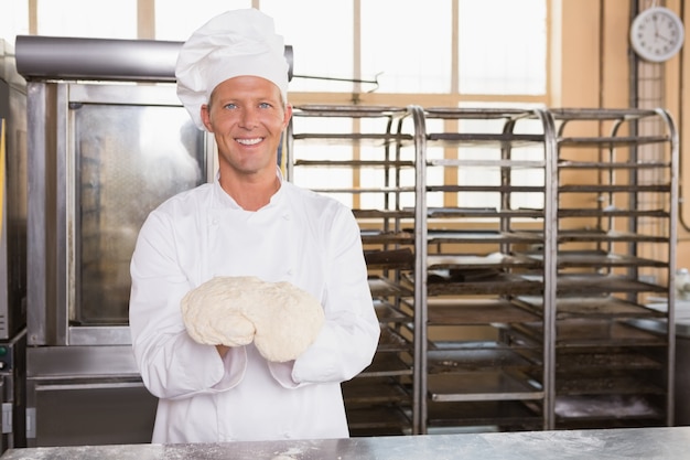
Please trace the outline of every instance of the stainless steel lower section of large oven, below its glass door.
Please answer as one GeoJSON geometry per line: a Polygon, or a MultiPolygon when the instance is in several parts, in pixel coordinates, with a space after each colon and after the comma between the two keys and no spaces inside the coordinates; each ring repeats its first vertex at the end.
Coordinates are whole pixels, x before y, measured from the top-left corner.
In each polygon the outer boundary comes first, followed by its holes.
{"type": "Polygon", "coordinates": [[[32,346],[26,356],[29,446],[151,440],[158,399],[130,346],[32,346]]]}

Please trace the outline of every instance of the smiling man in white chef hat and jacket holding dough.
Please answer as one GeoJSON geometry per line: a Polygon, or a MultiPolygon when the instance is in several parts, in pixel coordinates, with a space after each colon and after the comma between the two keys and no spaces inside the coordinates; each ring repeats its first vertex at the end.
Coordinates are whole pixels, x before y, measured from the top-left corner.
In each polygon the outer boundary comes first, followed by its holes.
{"type": "Polygon", "coordinates": [[[218,172],[151,212],[132,255],[132,347],[159,398],[152,442],[348,436],[341,383],[370,364],[380,329],[352,211],[277,165],[292,115],[283,54],[273,20],[255,9],[212,19],[180,51],[177,95],[214,135],[218,172]],[[323,324],[299,356],[270,361],[254,342],[187,333],[182,299],[239,277],[319,300],[323,324]]]}

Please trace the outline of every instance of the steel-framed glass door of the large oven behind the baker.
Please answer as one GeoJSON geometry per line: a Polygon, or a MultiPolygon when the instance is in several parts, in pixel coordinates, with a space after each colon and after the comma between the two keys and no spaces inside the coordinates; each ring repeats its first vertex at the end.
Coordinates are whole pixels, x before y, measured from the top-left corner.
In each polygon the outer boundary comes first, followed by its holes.
{"type": "Polygon", "coordinates": [[[29,93],[30,208],[46,232],[30,235],[29,343],[129,344],[139,229],[211,178],[212,147],[174,85],[35,83],[29,93]]]}

